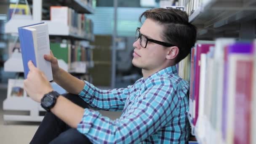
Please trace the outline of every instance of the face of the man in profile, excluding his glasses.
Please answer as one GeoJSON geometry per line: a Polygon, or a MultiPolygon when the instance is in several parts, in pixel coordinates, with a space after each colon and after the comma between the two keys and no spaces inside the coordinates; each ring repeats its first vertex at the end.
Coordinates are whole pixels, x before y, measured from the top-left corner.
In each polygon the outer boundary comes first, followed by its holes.
{"type": "MultiPolygon", "coordinates": [[[[153,39],[162,41],[161,33],[163,32],[163,26],[156,23],[152,19],[146,19],[140,30],[142,35],[153,39]]],[[[146,69],[154,70],[163,67],[166,63],[166,55],[168,50],[162,45],[147,42],[147,47],[142,48],[140,45],[140,39],[133,43],[134,53],[132,63],[134,66],[146,69]]]]}

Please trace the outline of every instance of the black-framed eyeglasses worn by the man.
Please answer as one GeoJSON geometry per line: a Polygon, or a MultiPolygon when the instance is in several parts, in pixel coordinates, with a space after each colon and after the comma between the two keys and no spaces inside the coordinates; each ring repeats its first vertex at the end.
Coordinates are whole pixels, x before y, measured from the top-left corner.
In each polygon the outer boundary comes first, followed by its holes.
{"type": "Polygon", "coordinates": [[[157,43],[159,45],[163,45],[165,47],[176,46],[176,45],[172,45],[170,43],[165,43],[165,42],[161,42],[161,41],[158,41],[158,40],[153,40],[153,39],[147,38],[146,36],[141,34],[139,29],[140,29],[140,27],[137,27],[135,38],[136,38],[136,40],[139,39],[139,43],[140,43],[142,48],[146,48],[147,47],[147,42],[148,41],[150,41],[152,43],[157,43]]]}

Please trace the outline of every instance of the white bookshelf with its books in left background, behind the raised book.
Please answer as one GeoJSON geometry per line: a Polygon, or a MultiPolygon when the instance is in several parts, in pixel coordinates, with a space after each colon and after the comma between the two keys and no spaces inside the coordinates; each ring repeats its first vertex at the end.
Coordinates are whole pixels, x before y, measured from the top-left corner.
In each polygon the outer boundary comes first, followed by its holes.
{"type": "MultiPolygon", "coordinates": [[[[29,3],[32,3],[32,16],[21,15],[21,16],[13,16],[6,24],[5,24],[5,33],[11,35],[17,35],[18,27],[35,24],[39,22],[45,22],[48,24],[49,37],[50,37],[50,45],[51,50],[56,51],[56,55],[59,56],[66,54],[66,57],[62,57],[58,59],[59,67],[64,69],[65,71],[72,73],[72,75],[90,75],[88,73],[88,68],[94,67],[94,62],[92,61],[91,49],[93,47],[90,45],[89,41],[94,41],[94,35],[92,31],[90,31],[91,21],[90,23],[86,23],[88,21],[83,21],[83,24],[90,25],[90,28],[83,27],[82,25],[82,14],[78,13],[93,13],[93,8],[91,4],[88,4],[89,0],[54,0],[54,1],[43,1],[43,0],[28,0],[29,3]],[[62,5],[67,6],[68,8],[75,9],[76,13],[74,16],[77,16],[77,19],[74,19],[77,22],[77,27],[72,27],[72,22],[69,19],[68,24],[63,24],[60,21],[51,21],[51,20],[42,20],[42,12],[43,8],[54,6],[54,5],[62,5]],[[79,17],[79,16],[81,17],[79,17]],[[76,21],[77,20],[77,21],[76,21]],[[81,24],[79,24],[79,22],[81,24]],[[78,29],[80,27],[80,29],[78,29]],[[89,29],[89,30],[88,30],[89,29]],[[75,32],[74,32],[75,31],[75,32]],[[88,33],[86,33],[88,32],[88,33]],[[55,49],[54,49],[55,48],[55,49]],[[60,51],[60,49],[62,51],[60,51]],[[83,49],[83,51],[82,51],[83,49]],[[58,51],[59,50],[59,51],[58,51]],[[88,53],[88,51],[90,53],[88,53]],[[88,59],[89,56],[90,59],[88,59]],[[83,58],[82,58],[83,56],[83,58]],[[83,59],[83,60],[82,60],[83,59]]],[[[74,10],[72,10],[74,11],[74,10]]],[[[86,19],[84,17],[84,19],[86,19]]],[[[10,45],[9,45],[10,46],[10,45]]],[[[19,47],[19,45],[15,45],[15,47],[19,47]]],[[[13,47],[11,47],[13,48],[13,47]]],[[[53,52],[54,53],[54,52],[53,52]]],[[[55,55],[55,56],[56,56],[55,55]]],[[[57,56],[56,56],[57,57],[57,56]]],[[[9,59],[4,64],[5,72],[16,72],[22,74],[24,72],[23,63],[21,60],[21,53],[18,51],[14,51],[9,59]]],[[[84,77],[85,77],[84,76],[84,77]]],[[[66,93],[63,88],[61,88],[56,83],[51,83],[53,89],[58,91],[59,93],[66,93]]],[[[3,101],[3,110],[7,113],[3,115],[5,121],[34,121],[40,122],[43,120],[43,115],[40,115],[40,112],[44,112],[45,110],[32,99],[27,96],[26,92],[23,90],[23,80],[17,79],[9,79],[8,80],[8,91],[11,91],[7,94],[7,99],[3,101]],[[19,84],[19,85],[18,85],[19,84]],[[19,88],[19,91],[15,91],[19,88]],[[16,93],[23,92],[23,96],[16,96],[16,93]],[[29,115],[10,115],[8,111],[27,111],[29,115]]]]}

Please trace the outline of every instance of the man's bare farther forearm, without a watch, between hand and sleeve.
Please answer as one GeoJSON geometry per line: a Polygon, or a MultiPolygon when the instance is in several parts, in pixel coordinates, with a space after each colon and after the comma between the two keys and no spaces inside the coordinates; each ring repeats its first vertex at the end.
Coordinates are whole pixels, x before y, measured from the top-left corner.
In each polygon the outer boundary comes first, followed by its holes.
{"type": "Polygon", "coordinates": [[[66,91],[73,94],[79,94],[85,85],[83,80],[79,80],[61,68],[59,68],[59,72],[53,75],[53,80],[66,91]]]}

